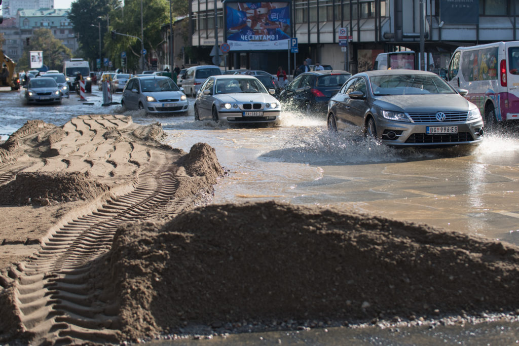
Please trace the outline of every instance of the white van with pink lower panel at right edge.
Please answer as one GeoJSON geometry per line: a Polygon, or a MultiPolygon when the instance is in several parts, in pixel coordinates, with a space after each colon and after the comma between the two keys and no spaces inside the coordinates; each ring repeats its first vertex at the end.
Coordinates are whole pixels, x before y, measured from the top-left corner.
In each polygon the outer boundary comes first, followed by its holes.
{"type": "Polygon", "coordinates": [[[519,119],[519,41],[459,47],[446,79],[480,108],[485,124],[519,119]]]}

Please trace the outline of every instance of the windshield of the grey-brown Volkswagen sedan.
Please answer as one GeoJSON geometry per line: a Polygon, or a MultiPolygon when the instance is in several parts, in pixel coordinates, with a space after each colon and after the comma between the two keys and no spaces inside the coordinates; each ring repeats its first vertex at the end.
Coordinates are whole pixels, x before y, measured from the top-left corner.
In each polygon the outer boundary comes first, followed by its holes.
{"type": "Polygon", "coordinates": [[[374,95],[454,94],[439,76],[402,74],[370,77],[374,95]]]}

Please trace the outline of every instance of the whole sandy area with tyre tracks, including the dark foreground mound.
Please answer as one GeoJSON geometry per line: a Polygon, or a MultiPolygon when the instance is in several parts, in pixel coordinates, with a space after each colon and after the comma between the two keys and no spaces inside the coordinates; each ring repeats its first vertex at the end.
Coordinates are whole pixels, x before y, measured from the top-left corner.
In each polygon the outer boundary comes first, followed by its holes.
{"type": "Polygon", "coordinates": [[[162,137],[80,116],[1,145],[0,342],[515,318],[519,248],[317,206],[208,205],[214,149],[162,137]]]}

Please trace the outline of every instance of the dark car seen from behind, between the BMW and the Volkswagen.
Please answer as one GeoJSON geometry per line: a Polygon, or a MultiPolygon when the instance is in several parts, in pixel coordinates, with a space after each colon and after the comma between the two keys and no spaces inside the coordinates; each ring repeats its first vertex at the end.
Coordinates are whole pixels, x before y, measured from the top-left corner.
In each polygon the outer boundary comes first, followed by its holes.
{"type": "Polygon", "coordinates": [[[326,114],[328,101],[351,73],[341,70],[312,71],[298,75],[279,94],[279,101],[293,108],[326,114]]]}

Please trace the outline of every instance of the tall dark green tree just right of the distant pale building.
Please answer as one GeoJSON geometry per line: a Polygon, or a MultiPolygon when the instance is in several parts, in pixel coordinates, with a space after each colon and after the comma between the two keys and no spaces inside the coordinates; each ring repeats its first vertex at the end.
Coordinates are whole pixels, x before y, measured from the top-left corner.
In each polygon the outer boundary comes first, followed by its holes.
{"type": "Polygon", "coordinates": [[[99,58],[98,23],[101,33],[106,33],[106,14],[118,4],[118,0],[76,0],[71,4],[69,19],[74,32],[79,34],[79,45],[85,54],[81,58],[93,61],[99,58]]]}

